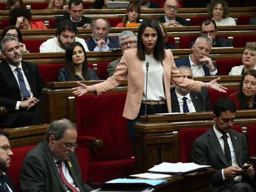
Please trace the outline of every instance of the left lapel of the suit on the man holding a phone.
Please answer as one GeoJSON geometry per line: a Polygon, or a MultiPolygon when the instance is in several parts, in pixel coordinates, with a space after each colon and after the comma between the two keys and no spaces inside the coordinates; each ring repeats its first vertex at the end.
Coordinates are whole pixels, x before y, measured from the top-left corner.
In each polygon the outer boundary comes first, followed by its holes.
{"type": "Polygon", "coordinates": [[[224,156],[224,152],[223,150],[221,149],[221,145],[220,145],[220,142],[213,130],[213,128],[211,128],[211,131],[209,131],[209,134],[208,134],[208,140],[212,146],[212,148],[214,149],[214,151],[216,152],[217,156],[221,159],[221,161],[225,164],[226,164],[226,158],[224,156]]]}

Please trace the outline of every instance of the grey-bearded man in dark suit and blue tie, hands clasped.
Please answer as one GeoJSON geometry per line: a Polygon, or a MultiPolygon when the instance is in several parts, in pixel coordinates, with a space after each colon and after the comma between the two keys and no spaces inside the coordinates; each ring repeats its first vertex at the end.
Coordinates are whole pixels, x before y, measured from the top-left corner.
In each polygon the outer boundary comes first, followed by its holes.
{"type": "Polygon", "coordinates": [[[19,42],[12,37],[1,41],[0,106],[8,113],[0,127],[23,127],[41,124],[40,96],[43,79],[37,65],[22,61],[19,42]]]}

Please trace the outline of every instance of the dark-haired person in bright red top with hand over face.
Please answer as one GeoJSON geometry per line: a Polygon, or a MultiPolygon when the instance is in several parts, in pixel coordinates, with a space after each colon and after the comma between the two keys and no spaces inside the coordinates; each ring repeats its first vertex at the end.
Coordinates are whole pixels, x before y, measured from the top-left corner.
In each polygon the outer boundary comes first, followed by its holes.
{"type": "Polygon", "coordinates": [[[31,12],[25,7],[16,7],[10,11],[9,20],[21,30],[46,30],[47,27],[42,21],[32,22],[31,12]]]}

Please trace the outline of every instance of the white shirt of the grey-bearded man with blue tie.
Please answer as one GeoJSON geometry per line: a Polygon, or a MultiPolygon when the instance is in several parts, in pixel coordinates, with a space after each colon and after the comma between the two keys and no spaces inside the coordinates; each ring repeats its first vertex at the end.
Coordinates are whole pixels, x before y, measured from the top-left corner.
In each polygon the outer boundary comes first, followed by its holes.
{"type": "MultiPolygon", "coordinates": [[[[11,67],[12,73],[14,73],[14,77],[15,77],[15,79],[16,79],[18,85],[19,85],[19,88],[20,88],[20,83],[19,83],[19,78],[18,78],[18,72],[17,72],[17,70],[16,70],[17,67],[15,67],[14,65],[10,65],[10,64],[9,64],[9,66],[11,67]]],[[[19,68],[20,68],[20,71],[22,72],[23,79],[24,79],[24,82],[25,82],[25,86],[26,86],[28,92],[30,93],[30,98],[33,98],[33,92],[32,92],[32,90],[31,90],[31,87],[30,87],[29,83],[28,83],[27,77],[26,77],[26,75],[25,75],[25,73],[24,73],[24,70],[23,70],[23,68],[22,68],[22,64],[21,64],[21,63],[20,63],[20,65],[19,65],[19,68]]],[[[23,101],[23,95],[22,95],[21,92],[20,92],[20,96],[21,96],[22,101],[23,101]]],[[[16,102],[16,106],[15,106],[15,109],[16,109],[16,110],[19,110],[19,109],[20,109],[20,102],[21,102],[21,101],[17,101],[17,102],[16,102]]]]}

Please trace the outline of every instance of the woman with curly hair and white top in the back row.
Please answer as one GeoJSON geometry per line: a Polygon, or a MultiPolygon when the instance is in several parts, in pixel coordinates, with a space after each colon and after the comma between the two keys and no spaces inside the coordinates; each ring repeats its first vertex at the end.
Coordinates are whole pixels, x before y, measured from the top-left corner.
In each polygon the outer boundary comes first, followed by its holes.
{"type": "Polygon", "coordinates": [[[212,0],[208,4],[208,12],[217,26],[236,25],[232,17],[228,17],[228,3],[224,0],[212,0]]]}

